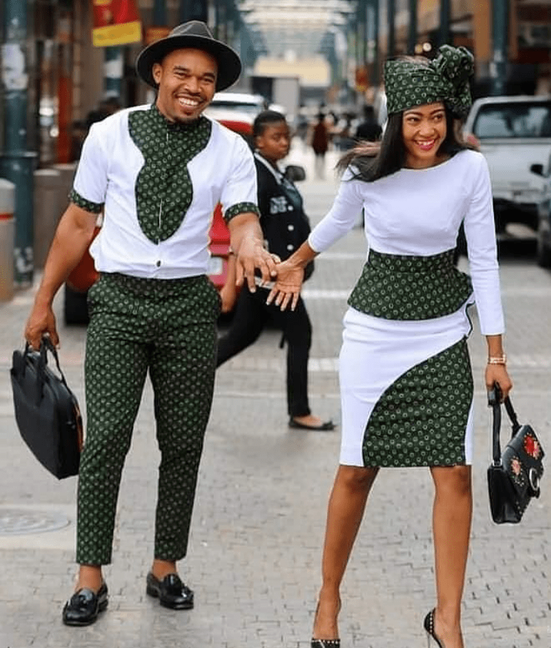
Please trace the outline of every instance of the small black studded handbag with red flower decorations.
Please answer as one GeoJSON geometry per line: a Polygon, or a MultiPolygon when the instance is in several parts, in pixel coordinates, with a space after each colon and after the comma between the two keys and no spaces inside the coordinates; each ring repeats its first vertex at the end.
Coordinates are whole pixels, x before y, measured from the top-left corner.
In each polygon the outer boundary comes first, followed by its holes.
{"type": "Polygon", "coordinates": [[[488,393],[493,408],[493,462],[488,467],[490,511],[497,524],[518,523],[533,497],[540,496],[545,452],[529,425],[520,425],[509,397],[504,399],[513,430],[503,452],[500,449],[501,404],[496,385],[488,393]]]}

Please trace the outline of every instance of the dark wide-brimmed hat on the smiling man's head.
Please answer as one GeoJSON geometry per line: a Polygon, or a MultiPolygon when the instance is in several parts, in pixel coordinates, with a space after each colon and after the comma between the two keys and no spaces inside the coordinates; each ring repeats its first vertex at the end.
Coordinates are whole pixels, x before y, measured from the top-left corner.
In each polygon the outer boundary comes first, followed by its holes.
{"type": "Polygon", "coordinates": [[[216,90],[225,90],[237,81],[241,74],[241,60],[237,52],[213,38],[209,28],[200,20],[190,20],[178,25],[166,38],[161,38],[147,45],[136,58],[136,72],[138,77],[146,84],[157,88],[153,79],[153,63],[161,63],[163,58],[174,52],[175,49],[202,49],[216,58],[218,75],[216,77],[216,90]]]}

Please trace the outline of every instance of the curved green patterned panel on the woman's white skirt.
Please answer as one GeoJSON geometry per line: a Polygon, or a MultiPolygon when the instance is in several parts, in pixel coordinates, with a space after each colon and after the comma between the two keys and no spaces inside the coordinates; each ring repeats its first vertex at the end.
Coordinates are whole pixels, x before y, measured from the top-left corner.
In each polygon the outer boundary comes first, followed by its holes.
{"type": "Polygon", "coordinates": [[[465,464],[472,394],[464,338],[410,369],[385,391],[366,427],[365,466],[465,464]]]}

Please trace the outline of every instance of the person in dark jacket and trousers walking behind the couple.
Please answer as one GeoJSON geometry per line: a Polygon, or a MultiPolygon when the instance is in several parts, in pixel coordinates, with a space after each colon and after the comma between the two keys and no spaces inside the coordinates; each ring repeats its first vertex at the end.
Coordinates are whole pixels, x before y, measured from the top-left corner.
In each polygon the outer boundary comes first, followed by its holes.
{"type": "MultiPolygon", "coordinates": [[[[310,223],[303,200],[293,182],[285,177],[278,162],[289,155],[291,134],[282,113],[266,110],[253,123],[257,199],[260,226],[271,253],[287,258],[310,234],[310,223]]],[[[289,427],[329,431],[333,421],[314,416],[308,402],[308,356],[312,343],[312,324],[302,299],[296,309],[281,312],[266,305],[267,289],[250,292],[243,287],[237,296],[235,260],[230,255],[227,279],[221,290],[222,312],[235,306],[230,330],[218,340],[216,366],[219,367],[257,340],[269,320],[282,330],[287,341],[287,412],[289,427]],[[237,301],[237,306],[236,306],[237,301]]]]}

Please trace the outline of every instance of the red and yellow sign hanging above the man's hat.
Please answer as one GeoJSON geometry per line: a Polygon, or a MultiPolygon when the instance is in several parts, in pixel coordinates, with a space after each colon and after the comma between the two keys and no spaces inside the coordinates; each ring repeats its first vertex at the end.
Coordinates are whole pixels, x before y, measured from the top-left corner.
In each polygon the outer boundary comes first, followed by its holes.
{"type": "Polygon", "coordinates": [[[135,0],[92,0],[94,47],[140,42],[141,21],[135,0]]]}

